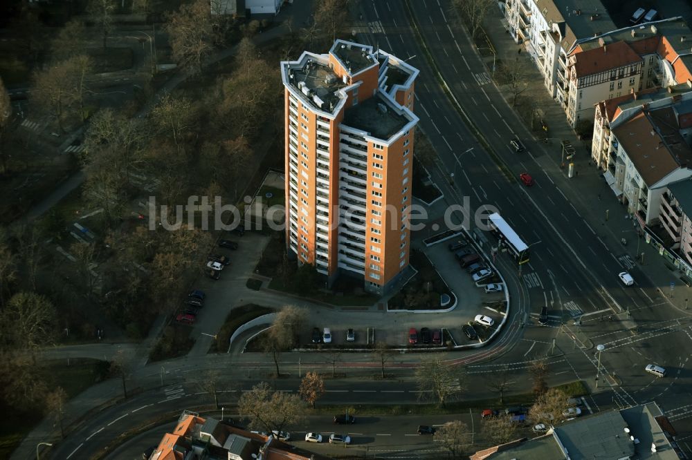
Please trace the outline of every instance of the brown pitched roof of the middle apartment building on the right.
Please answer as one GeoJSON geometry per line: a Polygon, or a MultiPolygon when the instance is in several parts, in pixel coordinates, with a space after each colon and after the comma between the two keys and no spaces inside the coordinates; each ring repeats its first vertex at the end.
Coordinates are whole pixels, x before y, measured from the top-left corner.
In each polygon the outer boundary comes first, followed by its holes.
{"type": "Polygon", "coordinates": [[[692,149],[680,135],[676,119],[668,106],[641,111],[612,130],[647,186],[691,164],[692,149]]]}

